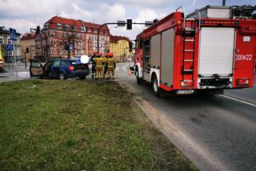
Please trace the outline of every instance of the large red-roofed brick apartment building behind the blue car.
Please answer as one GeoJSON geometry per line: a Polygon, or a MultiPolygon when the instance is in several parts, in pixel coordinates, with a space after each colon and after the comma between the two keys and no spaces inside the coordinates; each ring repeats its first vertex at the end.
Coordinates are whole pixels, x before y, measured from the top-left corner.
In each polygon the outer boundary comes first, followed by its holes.
{"type": "MultiPolygon", "coordinates": [[[[72,50],[70,57],[90,55],[97,50],[97,32],[100,25],[83,22],[69,18],[54,16],[47,21],[42,31],[46,34],[38,34],[36,44],[36,55],[38,58],[46,58],[46,39],[49,58],[67,58],[65,45],[71,42],[72,50]]],[[[110,33],[107,26],[103,27],[99,34],[100,51],[109,49],[110,33]]]]}

